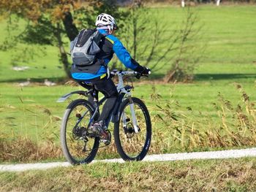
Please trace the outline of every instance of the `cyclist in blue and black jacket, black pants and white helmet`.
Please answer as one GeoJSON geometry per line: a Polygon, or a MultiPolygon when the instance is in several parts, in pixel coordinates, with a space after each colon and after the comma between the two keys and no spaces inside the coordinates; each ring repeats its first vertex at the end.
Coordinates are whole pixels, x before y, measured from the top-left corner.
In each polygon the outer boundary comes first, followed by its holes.
{"type": "Polygon", "coordinates": [[[100,51],[97,53],[94,62],[98,62],[98,64],[100,63],[101,66],[95,72],[94,65],[91,66],[94,69],[89,69],[89,66],[83,67],[72,64],[71,74],[72,78],[84,88],[91,88],[91,86],[94,86],[97,91],[100,91],[108,98],[97,122],[94,122],[90,127],[94,134],[104,138],[107,137],[104,131],[105,120],[108,119],[108,116],[112,112],[118,97],[116,85],[109,77],[108,70],[108,63],[113,58],[113,54],[116,54],[124,66],[135,72],[148,74],[150,69],[145,66],[140,66],[140,64],[131,57],[120,40],[113,35],[118,27],[116,25],[116,20],[111,15],[105,13],[98,15],[95,25],[97,26],[97,31],[102,34],[102,37],[99,42],[100,51]]]}

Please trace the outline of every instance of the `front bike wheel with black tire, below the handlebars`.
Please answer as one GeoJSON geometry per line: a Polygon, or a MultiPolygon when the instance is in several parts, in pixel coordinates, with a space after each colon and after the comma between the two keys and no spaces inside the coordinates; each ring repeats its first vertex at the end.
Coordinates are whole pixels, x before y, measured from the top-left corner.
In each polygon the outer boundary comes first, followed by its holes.
{"type": "MultiPolygon", "coordinates": [[[[132,101],[134,105],[138,107],[136,108],[137,110],[135,112],[135,115],[138,120],[138,126],[140,126],[140,132],[138,132],[137,134],[134,134],[134,136],[132,137],[134,138],[133,143],[129,145],[129,142],[132,140],[132,138],[130,139],[130,141],[129,139],[127,139],[128,135],[125,134],[125,131],[124,131],[125,127],[121,122],[123,115],[126,114],[126,111],[125,111],[126,108],[129,107],[129,99],[125,99],[121,103],[118,121],[114,125],[114,138],[116,143],[116,149],[119,155],[121,156],[121,158],[124,159],[124,161],[141,161],[148,153],[148,149],[151,144],[151,134],[152,134],[151,119],[148,113],[148,109],[146,105],[143,103],[143,101],[135,97],[132,97],[132,101]],[[139,110],[141,110],[142,115],[141,114],[138,115],[139,110]],[[143,122],[142,118],[145,118],[145,122],[143,122]],[[143,133],[142,133],[142,128],[143,128],[143,133]],[[139,136],[139,134],[141,135],[139,136]],[[124,135],[126,135],[127,138],[125,138],[124,135]],[[138,139],[139,137],[141,138],[145,137],[145,141],[143,143],[138,142],[138,145],[137,145],[136,138],[138,139]],[[138,149],[135,149],[137,146],[138,146],[138,149]],[[135,151],[132,151],[132,147],[134,147],[135,151]]],[[[125,121],[128,120],[127,118],[128,116],[129,115],[126,116],[125,121]]],[[[132,123],[129,123],[129,124],[132,126],[132,123]]],[[[128,128],[128,129],[131,129],[131,128],[128,128]]]]}

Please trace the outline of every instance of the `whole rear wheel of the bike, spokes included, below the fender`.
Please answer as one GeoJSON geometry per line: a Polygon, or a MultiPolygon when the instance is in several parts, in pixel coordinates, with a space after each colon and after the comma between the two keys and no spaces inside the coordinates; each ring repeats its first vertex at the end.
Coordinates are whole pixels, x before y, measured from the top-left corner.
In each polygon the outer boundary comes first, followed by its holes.
{"type": "Polygon", "coordinates": [[[61,147],[70,164],[89,164],[99,148],[99,137],[86,136],[94,107],[85,99],[72,101],[61,123],[61,147]]]}

